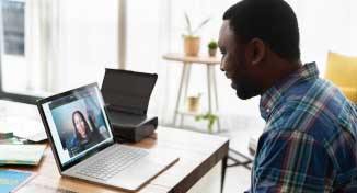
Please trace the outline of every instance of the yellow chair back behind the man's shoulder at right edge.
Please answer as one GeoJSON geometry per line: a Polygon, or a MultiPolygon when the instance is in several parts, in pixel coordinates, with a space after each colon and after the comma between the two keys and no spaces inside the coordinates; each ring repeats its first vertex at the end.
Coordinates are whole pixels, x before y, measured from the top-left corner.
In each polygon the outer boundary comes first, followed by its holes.
{"type": "Polygon", "coordinates": [[[336,84],[347,99],[357,104],[357,56],[329,52],[325,79],[336,84]]]}

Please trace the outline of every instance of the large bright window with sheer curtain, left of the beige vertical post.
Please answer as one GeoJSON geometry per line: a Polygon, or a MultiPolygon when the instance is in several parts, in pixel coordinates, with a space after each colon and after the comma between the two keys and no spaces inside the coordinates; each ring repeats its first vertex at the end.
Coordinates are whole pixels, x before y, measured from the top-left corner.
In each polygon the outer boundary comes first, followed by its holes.
{"type": "Polygon", "coordinates": [[[1,0],[0,96],[33,103],[101,82],[118,67],[117,21],[117,0],[1,0]]]}

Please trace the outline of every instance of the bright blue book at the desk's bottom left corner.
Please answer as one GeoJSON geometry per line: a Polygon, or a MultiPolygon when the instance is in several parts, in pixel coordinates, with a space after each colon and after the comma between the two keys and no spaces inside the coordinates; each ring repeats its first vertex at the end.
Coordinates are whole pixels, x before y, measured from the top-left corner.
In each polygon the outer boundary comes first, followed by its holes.
{"type": "Polygon", "coordinates": [[[0,170],[0,192],[15,192],[34,177],[27,171],[0,170]]]}

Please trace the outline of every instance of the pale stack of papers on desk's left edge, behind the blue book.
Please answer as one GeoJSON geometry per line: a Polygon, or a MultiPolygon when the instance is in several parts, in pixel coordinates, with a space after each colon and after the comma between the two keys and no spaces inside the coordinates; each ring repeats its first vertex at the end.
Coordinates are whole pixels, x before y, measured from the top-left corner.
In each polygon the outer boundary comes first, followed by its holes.
{"type": "Polygon", "coordinates": [[[0,164],[36,166],[45,148],[45,145],[0,145],[0,164]]]}

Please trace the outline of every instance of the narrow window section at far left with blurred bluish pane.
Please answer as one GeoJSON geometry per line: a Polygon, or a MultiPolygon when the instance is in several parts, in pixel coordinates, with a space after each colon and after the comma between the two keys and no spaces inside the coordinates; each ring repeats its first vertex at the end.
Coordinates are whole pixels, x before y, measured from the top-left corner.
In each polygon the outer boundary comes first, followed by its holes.
{"type": "MultiPolygon", "coordinates": [[[[25,1],[2,0],[0,2],[0,96],[23,102],[34,102],[36,98],[9,92],[9,86],[25,88],[27,78],[25,66],[25,1]]],[[[10,89],[11,90],[11,89],[10,89]]]]}

